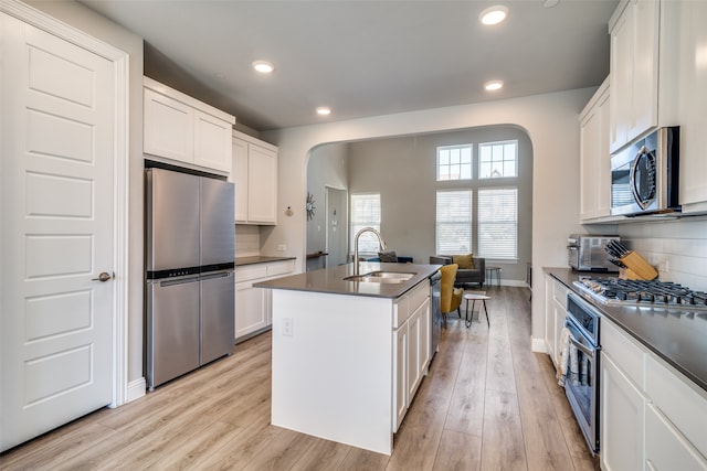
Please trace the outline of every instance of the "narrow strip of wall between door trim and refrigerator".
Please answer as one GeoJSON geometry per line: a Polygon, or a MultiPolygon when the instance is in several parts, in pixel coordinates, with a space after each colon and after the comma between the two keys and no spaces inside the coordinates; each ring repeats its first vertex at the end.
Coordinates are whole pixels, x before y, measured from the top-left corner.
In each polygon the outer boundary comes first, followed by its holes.
{"type": "Polygon", "coordinates": [[[143,378],[143,39],[73,1],[27,1],[46,14],[130,55],[128,189],[128,381],[143,378]]]}

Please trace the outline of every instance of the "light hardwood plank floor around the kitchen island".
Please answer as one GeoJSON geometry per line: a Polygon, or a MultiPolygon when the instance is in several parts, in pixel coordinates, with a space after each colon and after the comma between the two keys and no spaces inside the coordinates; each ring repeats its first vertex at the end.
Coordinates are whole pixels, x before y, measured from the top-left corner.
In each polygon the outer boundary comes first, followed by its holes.
{"type": "Polygon", "coordinates": [[[271,426],[266,333],[144,398],[3,453],[0,468],[598,469],[549,357],[530,352],[529,291],[494,287],[487,295],[490,329],[485,319],[466,329],[450,315],[390,457],[271,426]]]}

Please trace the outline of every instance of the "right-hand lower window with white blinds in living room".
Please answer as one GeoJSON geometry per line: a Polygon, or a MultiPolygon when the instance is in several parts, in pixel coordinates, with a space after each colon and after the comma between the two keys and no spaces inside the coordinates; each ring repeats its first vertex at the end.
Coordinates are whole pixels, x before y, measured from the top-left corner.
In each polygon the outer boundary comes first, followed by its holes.
{"type": "Polygon", "coordinates": [[[478,254],[518,258],[518,189],[478,190],[478,254]]]}

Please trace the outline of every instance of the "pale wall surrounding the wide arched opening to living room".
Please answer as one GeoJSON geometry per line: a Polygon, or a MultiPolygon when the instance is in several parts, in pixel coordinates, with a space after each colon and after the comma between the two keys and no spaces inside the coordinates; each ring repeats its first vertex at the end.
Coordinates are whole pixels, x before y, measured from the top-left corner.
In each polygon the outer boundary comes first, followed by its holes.
{"type": "MultiPolygon", "coordinates": [[[[309,151],[326,142],[352,141],[415,132],[434,132],[487,125],[516,125],[532,142],[534,286],[542,286],[541,267],[567,266],[567,236],[579,224],[579,113],[595,88],[536,95],[475,105],[436,108],[372,118],[303,126],[263,133],[279,147],[279,207],[302,207],[307,195],[309,151]]],[[[306,215],[297,211],[262,240],[263,254],[287,244],[304,271],[306,215]]],[[[545,329],[545,300],[532,297],[532,336],[545,329]]]]}

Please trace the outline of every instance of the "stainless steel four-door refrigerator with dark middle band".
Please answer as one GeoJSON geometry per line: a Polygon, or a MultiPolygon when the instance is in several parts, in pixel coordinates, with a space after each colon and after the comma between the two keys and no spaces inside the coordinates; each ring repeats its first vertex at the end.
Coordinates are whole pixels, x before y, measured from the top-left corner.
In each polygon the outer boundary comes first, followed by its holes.
{"type": "Polygon", "coordinates": [[[146,170],[147,386],[234,345],[234,186],[160,168],[146,170]]]}

